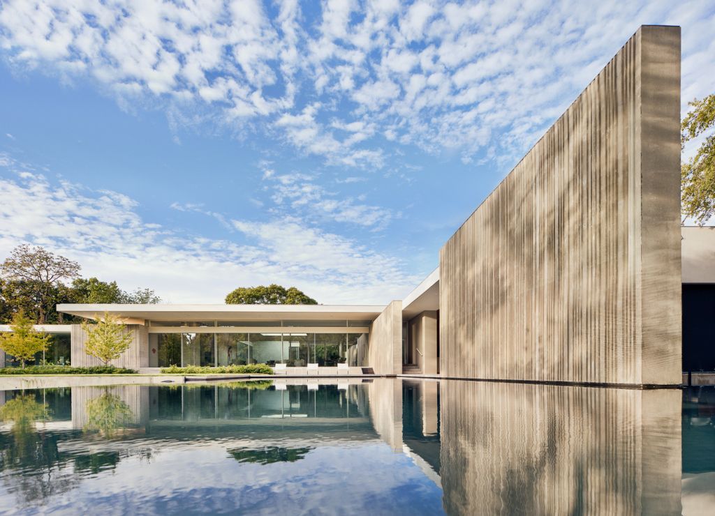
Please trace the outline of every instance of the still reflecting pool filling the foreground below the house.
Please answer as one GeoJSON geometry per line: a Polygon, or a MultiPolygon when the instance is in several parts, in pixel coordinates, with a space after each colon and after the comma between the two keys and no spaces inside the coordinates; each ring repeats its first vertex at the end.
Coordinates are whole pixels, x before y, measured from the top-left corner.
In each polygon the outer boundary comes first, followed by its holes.
{"type": "Polygon", "coordinates": [[[398,379],[0,391],[0,510],[706,514],[713,393],[398,379]]]}

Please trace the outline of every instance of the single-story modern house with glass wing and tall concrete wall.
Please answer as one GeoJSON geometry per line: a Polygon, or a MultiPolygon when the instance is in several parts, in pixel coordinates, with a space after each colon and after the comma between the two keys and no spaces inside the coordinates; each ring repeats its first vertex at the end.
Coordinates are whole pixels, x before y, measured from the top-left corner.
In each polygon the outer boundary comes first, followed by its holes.
{"type": "MultiPolygon", "coordinates": [[[[132,345],[117,365],[131,368],[679,385],[681,364],[715,370],[715,233],[681,227],[680,78],[680,28],[641,26],[403,300],[57,309],[122,318],[132,345]]],[[[94,363],[81,326],[64,331],[72,364],[94,363]]]]}

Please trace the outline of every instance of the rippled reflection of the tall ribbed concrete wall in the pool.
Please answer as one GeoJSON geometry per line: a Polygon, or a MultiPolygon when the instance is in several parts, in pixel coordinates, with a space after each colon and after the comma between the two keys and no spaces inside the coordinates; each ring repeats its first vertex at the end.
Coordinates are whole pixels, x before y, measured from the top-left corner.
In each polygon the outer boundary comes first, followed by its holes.
{"type": "Polygon", "coordinates": [[[450,514],[680,514],[679,390],[440,385],[450,514]]]}

